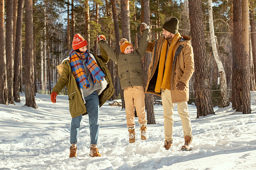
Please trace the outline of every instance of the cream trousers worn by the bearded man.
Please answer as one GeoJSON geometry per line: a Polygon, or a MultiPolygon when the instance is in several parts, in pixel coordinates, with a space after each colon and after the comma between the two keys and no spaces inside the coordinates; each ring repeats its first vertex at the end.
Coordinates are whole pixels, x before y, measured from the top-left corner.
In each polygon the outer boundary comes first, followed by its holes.
{"type": "MultiPolygon", "coordinates": [[[[162,104],[163,104],[163,117],[164,117],[164,138],[166,141],[173,140],[173,127],[174,127],[174,104],[170,90],[161,90],[162,104]]],[[[178,114],[181,118],[183,133],[185,136],[192,137],[191,122],[188,115],[187,102],[177,103],[178,114]]]]}

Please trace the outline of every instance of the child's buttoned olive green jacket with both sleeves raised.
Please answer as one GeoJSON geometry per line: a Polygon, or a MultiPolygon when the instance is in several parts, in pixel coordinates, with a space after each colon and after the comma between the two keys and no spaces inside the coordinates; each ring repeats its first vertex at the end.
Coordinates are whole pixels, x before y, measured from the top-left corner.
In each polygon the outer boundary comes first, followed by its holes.
{"type": "Polygon", "coordinates": [[[110,59],[118,63],[118,75],[121,89],[144,85],[141,59],[146,52],[149,32],[150,30],[148,29],[143,30],[139,46],[137,50],[134,50],[131,54],[116,53],[106,41],[100,40],[98,42],[106,51],[106,54],[110,56],[110,59]]]}

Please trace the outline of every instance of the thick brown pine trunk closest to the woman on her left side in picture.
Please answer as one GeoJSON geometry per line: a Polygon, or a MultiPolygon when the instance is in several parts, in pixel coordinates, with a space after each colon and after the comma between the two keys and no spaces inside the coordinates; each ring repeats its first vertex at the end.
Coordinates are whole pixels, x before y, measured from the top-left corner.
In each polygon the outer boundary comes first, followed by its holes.
{"type": "Polygon", "coordinates": [[[33,1],[25,1],[26,9],[26,39],[25,39],[25,89],[26,106],[37,108],[34,96],[33,74],[33,1]]]}

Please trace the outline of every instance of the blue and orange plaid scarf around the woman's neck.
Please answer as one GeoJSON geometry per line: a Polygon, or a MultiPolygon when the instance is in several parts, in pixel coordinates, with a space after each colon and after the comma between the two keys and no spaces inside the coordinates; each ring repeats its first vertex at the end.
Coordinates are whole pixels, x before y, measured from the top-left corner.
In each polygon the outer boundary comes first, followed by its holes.
{"type": "Polygon", "coordinates": [[[76,53],[72,49],[69,53],[69,57],[71,69],[80,88],[90,88],[90,84],[86,76],[86,70],[84,69],[81,60],[84,60],[84,64],[86,64],[87,68],[89,69],[93,84],[95,84],[96,81],[100,82],[103,80],[105,74],[102,72],[97,62],[90,56],[88,50],[85,53],[76,53]]]}

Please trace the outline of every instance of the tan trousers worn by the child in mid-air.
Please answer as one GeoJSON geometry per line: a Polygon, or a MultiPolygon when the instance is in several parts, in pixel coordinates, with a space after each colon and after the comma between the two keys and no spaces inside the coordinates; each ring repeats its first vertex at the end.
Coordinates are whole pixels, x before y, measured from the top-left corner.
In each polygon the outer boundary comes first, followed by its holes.
{"type": "Polygon", "coordinates": [[[139,117],[139,124],[147,123],[145,114],[145,93],[143,86],[126,87],[123,90],[127,127],[133,127],[134,123],[134,106],[139,117]]]}

